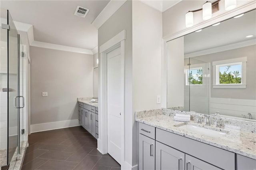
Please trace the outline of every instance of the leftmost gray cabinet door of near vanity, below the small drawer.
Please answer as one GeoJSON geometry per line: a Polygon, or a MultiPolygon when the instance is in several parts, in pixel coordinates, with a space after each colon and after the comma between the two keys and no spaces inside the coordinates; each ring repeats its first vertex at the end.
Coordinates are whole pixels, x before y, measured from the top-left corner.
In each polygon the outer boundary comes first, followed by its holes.
{"type": "Polygon", "coordinates": [[[155,140],[139,134],[139,170],[155,169],[155,140]]]}

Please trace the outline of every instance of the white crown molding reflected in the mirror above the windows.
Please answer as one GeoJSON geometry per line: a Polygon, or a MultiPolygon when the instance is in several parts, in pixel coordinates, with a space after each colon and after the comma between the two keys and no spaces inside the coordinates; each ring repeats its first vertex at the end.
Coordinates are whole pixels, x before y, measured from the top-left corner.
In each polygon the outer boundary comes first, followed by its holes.
{"type": "Polygon", "coordinates": [[[205,49],[202,51],[196,51],[196,52],[192,52],[192,53],[186,53],[184,55],[184,58],[189,58],[189,57],[196,57],[196,56],[200,56],[200,55],[207,55],[207,54],[212,54],[212,53],[218,53],[221,51],[227,51],[230,49],[236,49],[236,48],[242,48],[242,47],[247,47],[250,45],[255,45],[256,44],[256,39],[252,39],[252,40],[246,40],[243,42],[238,42],[238,43],[232,43],[232,44],[228,44],[228,45],[223,45],[220,47],[215,47],[215,48],[210,48],[210,49],[205,49]]]}

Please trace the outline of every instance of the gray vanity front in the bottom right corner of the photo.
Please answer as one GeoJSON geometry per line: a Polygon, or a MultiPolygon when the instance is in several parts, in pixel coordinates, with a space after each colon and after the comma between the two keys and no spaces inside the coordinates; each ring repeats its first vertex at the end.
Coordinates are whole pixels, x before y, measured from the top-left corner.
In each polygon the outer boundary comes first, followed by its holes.
{"type": "Polygon", "coordinates": [[[256,170],[256,160],[237,154],[237,170],[256,170]]]}

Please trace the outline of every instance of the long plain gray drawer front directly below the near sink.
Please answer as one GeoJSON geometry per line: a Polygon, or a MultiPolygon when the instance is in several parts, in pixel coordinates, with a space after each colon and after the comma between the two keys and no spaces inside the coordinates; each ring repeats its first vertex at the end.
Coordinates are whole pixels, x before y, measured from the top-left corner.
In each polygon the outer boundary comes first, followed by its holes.
{"type": "Polygon", "coordinates": [[[225,170],[235,169],[235,154],[156,128],[156,140],[225,170]]]}

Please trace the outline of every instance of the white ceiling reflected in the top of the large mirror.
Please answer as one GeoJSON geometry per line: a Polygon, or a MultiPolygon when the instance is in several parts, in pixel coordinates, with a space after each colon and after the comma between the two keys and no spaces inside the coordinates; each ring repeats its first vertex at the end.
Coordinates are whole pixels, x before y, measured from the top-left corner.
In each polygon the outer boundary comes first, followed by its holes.
{"type": "Polygon", "coordinates": [[[201,32],[193,32],[184,36],[184,53],[191,54],[224,45],[256,43],[256,10],[247,12],[240,18],[231,18],[218,26],[204,28],[201,32]],[[252,38],[246,38],[254,35],[252,38]]]}

